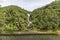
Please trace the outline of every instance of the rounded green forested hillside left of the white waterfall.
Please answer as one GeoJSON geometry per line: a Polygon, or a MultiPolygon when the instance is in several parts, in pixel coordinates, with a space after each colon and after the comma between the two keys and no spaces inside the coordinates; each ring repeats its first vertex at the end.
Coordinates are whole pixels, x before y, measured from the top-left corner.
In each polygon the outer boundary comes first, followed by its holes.
{"type": "Polygon", "coordinates": [[[23,31],[28,24],[27,13],[18,6],[10,5],[0,8],[0,31],[23,31]]]}

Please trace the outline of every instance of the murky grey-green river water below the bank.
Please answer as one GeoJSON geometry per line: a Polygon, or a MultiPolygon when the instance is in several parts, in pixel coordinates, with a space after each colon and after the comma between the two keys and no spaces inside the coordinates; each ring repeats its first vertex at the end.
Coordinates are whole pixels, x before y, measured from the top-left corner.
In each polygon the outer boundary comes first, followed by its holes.
{"type": "Polygon", "coordinates": [[[60,40],[60,35],[1,35],[0,40],[60,40]]]}

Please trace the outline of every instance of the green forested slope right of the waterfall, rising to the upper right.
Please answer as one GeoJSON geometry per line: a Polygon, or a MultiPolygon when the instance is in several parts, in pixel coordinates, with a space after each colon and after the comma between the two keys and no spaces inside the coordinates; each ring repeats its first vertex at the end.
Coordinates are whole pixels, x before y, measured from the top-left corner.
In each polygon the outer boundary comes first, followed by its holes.
{"type": "Polygon", "coordinates": [[[37,30],[60,30],[60,1],[35,9],[32,15],[37,30]]]}

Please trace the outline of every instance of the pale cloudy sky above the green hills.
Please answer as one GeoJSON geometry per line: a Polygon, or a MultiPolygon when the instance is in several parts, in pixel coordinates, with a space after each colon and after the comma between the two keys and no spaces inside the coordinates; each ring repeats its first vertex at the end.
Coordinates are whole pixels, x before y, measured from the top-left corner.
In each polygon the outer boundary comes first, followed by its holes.
{"type": "Polygon", "coordinates": [[[54,0],[0,0],[0,5],[8,6],[8,5],[17,5],[25,10],[32,11],[36,8],[45,6],[54,0]]]}

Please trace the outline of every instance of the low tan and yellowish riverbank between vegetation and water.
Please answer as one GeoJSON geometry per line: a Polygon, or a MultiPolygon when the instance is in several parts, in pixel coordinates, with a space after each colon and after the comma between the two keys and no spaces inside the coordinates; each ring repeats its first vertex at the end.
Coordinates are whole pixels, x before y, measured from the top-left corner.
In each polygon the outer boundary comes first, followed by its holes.
{"type": "Polygon", "coordinates": [[[36,34],[45,34],[45,35],[60,35],[60,31],[56,30],[56,31],[25,31],[25,32],[2,32],[0,33],[1,35],[36,35],[36,34]]]}

